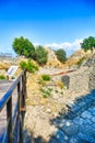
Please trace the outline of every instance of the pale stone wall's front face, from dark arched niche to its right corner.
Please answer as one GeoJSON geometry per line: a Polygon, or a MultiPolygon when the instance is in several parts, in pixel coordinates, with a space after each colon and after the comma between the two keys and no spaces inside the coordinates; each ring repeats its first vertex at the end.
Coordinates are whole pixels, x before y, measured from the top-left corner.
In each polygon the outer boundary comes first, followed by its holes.
{"type": "Polygon", "coordinates": [[[62,82],[67,86],[70,91],[81,92],[81,91],[90,91],[90,75],[92,68],[82,67],[76,72],[67,74],[67,76],[62,76],[62,82]],[[68,77],[68,78],[66,78],[68,77]]]}

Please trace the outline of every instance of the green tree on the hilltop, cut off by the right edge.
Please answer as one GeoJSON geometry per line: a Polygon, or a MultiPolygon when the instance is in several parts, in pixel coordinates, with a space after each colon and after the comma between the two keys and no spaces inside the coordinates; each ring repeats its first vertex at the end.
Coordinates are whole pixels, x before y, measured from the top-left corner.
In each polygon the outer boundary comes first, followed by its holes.
{"type": "Polygon", "coordinates": [[[85,52],[95,48],[95,37],[88,36],[87,38],[84,38],[83,42],[81,43],[81,48],[83,48],[85,52]]]}

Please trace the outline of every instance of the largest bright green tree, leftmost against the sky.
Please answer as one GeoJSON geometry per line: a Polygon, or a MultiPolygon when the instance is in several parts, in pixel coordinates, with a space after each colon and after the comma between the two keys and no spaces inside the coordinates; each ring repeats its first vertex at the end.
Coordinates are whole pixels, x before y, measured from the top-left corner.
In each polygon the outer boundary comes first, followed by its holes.
{"type": "Polygon", "coordinates": [[[35,47],[27,38],[15,37],[12,46],[16,54],[35,58],[35,47]]]}

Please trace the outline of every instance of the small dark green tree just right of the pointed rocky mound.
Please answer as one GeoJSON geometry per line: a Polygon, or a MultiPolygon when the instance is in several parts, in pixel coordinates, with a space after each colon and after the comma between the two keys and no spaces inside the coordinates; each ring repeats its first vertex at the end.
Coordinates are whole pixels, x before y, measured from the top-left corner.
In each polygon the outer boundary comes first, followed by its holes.
{"type": "Polygon", "coordinates": [[[58,58],[61,63],[64,63],[64,62],[67,61],[67,55],[66,55],[64,50],[60,48],[60,50],[56,51],[56,55],[57,55],[57,58],[58,58]]]}

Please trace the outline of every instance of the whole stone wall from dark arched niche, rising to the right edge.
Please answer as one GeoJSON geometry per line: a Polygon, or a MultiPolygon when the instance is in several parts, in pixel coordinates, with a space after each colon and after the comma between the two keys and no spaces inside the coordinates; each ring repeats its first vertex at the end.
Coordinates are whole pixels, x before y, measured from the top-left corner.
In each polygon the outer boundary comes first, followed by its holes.
{"type": "Polygon", "coordinates": [[[80,92],[95,89],[95,53],[83,63],[81,68],[67,76],[70,80],[66,76],[61,79],[69,91],[80,92]]]}

